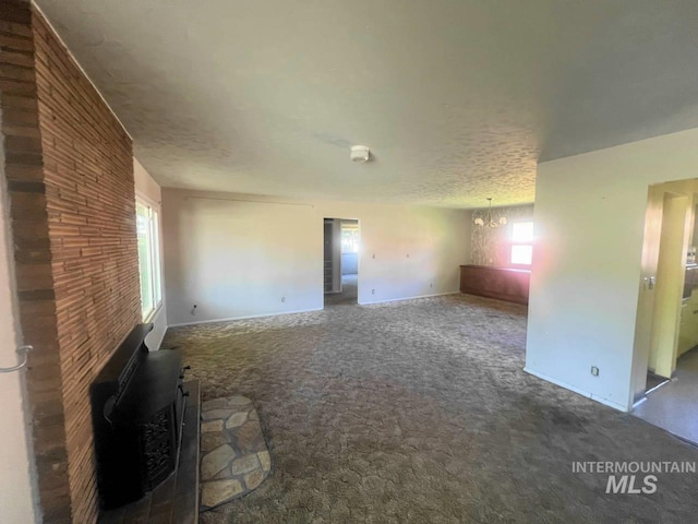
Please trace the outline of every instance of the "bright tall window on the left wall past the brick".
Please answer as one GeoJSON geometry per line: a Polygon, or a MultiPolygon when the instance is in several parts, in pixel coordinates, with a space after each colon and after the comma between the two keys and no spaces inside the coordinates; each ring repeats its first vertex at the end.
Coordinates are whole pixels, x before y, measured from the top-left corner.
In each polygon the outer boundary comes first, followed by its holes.
{"type": "Polygon", "coordinates": [[[136,200],[139,270],[141,273],[141,312],[147,321],[163,302],[160,275],[160,235],[157,210],[136,200]]]}

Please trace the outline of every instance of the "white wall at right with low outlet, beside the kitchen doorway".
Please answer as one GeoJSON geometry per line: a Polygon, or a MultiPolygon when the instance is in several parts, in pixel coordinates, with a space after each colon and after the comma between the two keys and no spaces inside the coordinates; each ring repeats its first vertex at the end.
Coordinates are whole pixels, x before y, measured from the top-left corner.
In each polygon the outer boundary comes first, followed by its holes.
{"type": "Polygon", "coordinates": [[[528,371],[631,407],[648,187],[698,176],[697,143],[694,129],[538,166],[528,371]]]}

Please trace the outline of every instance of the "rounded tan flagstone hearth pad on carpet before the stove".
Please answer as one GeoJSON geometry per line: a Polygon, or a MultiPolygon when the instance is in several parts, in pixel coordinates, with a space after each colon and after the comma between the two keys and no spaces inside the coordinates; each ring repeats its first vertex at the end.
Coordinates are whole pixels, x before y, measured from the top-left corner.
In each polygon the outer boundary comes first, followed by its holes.
{"type": "Polygon", "coordinates": [[[201,419],[201,511],[206,511],[256,489],[272,457],[250,398],[204,402],[201,419]]]}

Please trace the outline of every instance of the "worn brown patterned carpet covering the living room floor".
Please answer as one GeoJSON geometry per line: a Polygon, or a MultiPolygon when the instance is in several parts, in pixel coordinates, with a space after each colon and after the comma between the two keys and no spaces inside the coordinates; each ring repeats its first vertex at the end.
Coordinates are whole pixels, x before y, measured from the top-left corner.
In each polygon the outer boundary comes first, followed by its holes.
{"type": "Polygon", "coordinates": [[[255,401],[274,467],[213,523],[695,523],[698,476],[605,495],[575,461],[698,461],[524,372],[526,308],[467,295],[171,329],[204,400],[255,401]]]}

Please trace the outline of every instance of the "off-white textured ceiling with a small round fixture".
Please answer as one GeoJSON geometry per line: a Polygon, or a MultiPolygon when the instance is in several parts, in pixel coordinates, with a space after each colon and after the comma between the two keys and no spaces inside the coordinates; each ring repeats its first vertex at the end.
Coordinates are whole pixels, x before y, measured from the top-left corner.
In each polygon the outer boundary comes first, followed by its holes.
{"type": "Polygon", "coordinates": [[[38,4],[164,187],[518,204],[539,160],[698,127],[696,0],[38,4]]]}

